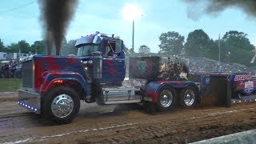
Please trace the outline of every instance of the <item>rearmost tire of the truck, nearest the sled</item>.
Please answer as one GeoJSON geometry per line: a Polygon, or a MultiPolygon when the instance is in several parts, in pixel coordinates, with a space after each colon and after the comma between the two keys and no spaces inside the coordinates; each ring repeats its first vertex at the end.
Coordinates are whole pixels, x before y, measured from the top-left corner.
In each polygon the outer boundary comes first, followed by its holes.
{"type": "Polygon", "coordinates": [[[181,90],[180,105],[182,106],[183,109],[194,108],[194,106],[196,106],[197,104],[198,104],[198,93],[197,93],[197,90],[194,88],[194,86],[187,86],[185,89],[181,90]]]}

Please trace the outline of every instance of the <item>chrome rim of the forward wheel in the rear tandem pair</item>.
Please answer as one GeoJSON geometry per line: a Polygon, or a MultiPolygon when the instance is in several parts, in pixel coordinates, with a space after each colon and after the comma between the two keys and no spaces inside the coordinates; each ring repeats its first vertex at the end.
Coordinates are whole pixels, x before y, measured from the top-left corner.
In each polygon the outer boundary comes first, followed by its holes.
{"type": "Polygon", "coordinates": [[[170,90],[163,90],[160,94],[160,103],[163,107],[169,107],[173,102],[173,94],[170,90]]]}

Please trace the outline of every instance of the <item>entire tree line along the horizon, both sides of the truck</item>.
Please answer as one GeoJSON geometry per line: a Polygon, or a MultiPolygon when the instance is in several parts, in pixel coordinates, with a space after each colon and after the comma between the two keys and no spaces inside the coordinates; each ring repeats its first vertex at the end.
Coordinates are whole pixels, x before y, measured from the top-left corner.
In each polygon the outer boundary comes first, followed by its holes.
{"type": "MultiPolygon", "coordinates": [[[[186,57],[205,57],[218,60],[218,50],[220,47],[221,62],[235,62],[246,66],[251,66],[250,61],[254,57],[255,46],[250,43],[247,34],[237,30],[226,32],[219,39],[212,39],[203,30],[194,30],[186,38],[178,32],[168,31],[159,36],[160,44],[158,54],[160,55],[182,55],[186,57]]],[[[75,40],[62,41],[61,55],[77,54],[78,49],[74,49],[75,40]]],[[[0,39],[0,52],[6,53],[46,54],[46,45],[44,41],[35,41],[29,44],[25,40],[17,43],[11,43],[5,46],[0,39]]],[[[54,50],[52,54],[54,54],[54,50]]],[[[139,46],[138,54],[133,50],[125,49],[126,54],[147,55],[150,53],[150,47],[146,45],[139,46]]]]}

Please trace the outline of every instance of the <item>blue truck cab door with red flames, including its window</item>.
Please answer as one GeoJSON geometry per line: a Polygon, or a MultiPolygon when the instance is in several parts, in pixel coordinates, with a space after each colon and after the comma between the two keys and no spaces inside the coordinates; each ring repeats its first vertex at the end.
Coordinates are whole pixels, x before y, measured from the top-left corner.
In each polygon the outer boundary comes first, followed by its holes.
{"type": "Polygon", "coordinates": [[[122,83],[126,75],[125,53],[122,40],[107,40],[103,46],[102,81],[122,83]]]}

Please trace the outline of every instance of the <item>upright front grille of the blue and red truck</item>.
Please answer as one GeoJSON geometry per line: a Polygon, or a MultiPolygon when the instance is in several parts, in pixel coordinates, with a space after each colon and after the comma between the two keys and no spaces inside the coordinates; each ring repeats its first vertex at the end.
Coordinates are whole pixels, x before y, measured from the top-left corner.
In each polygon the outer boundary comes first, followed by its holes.
{"type": "Polygon", "coordinates": [[[22,62],[22,86],[33,88],[33,60],[22,62]]]}

